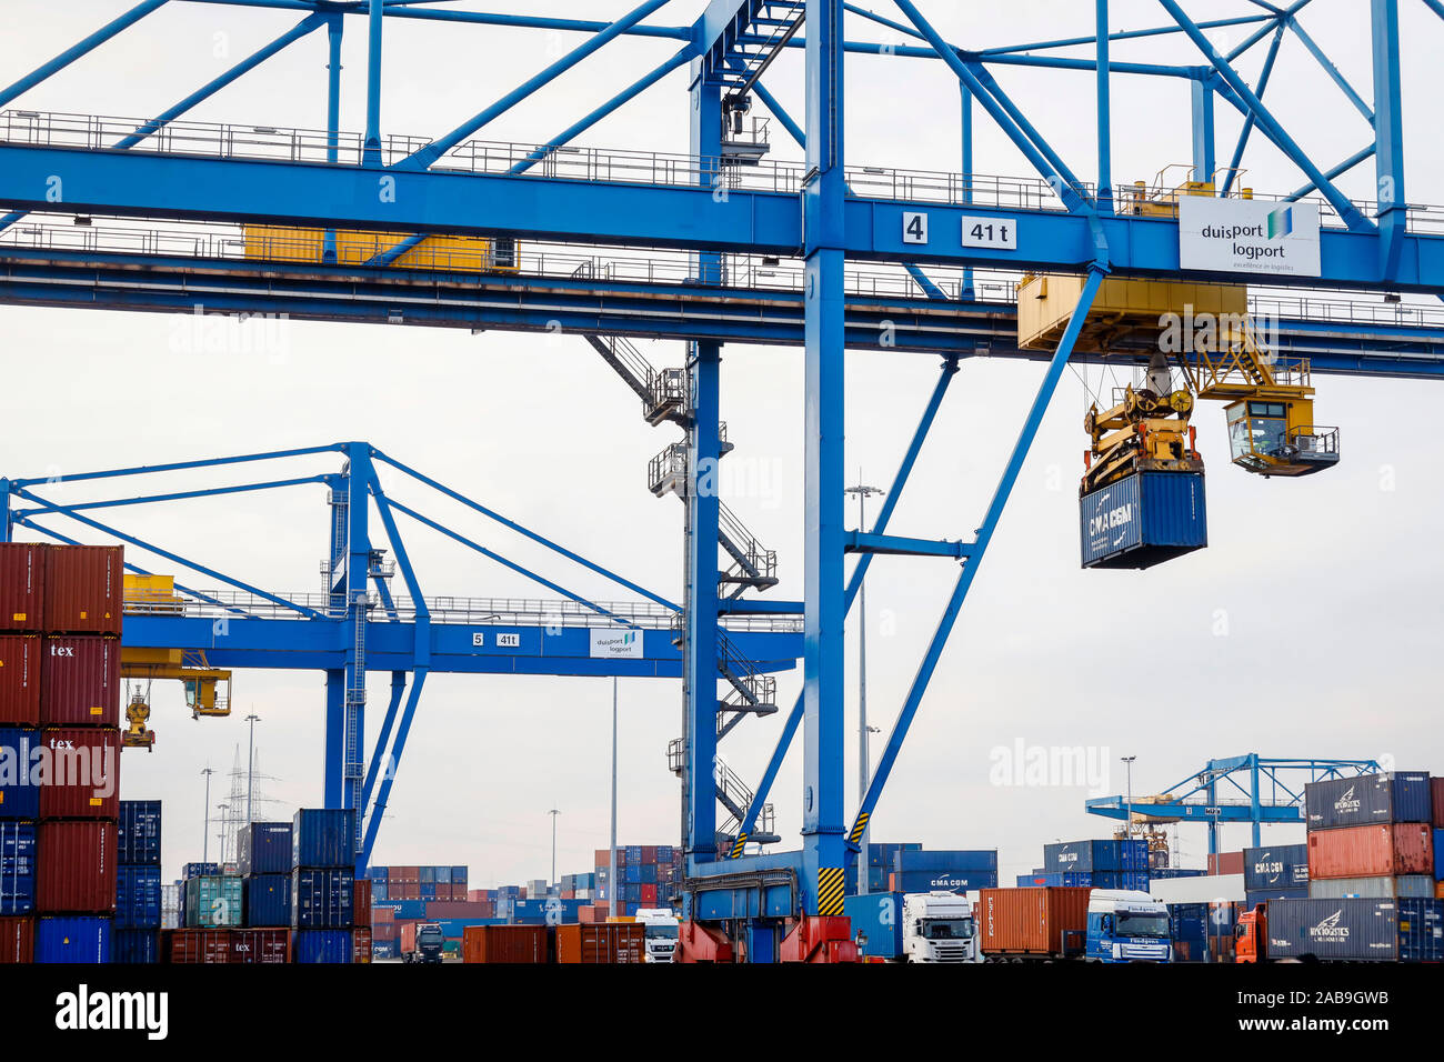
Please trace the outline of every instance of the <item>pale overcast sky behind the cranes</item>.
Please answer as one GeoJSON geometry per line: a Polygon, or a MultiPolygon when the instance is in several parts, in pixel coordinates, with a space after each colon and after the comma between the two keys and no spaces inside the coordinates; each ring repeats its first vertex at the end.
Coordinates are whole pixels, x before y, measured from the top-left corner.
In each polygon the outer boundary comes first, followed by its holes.
{"type": "MultiPolygon", "coordinates": [[[[464,0],[472,10],[497,3],[464,0]]],[[[628,3],[547,0],[529,13],[617,17],[628,3]]],[[[1092,32],[1092,4],[920,4],[947,38],[985,48],[1092,32]]],[[[55,55],[129,3],[10,0],[0,84],[55,55]]],[[[690,23],[700,0],[674,0],[650,19],[690,23]]],[[[1190,3],[1196,17],[1256,13],[1242,1],[1190,3]]],[[[895,16],[891,4],[875,4],[895,16]]],[[[17,104],[29,110],[147,117],[189,94],[296,22],[293,12],[251,12],[173,0],[17,104]]],[[[1360,94],[1372,98],[1367,4],[1315,0],[1301,16],[1360,94]]],[[[1440,94],[1444,22],[1402,3],[1408,199],[1444,202],[1441,149],[1430,107],[1440,94]]],[[[1162,25],[1148,0],[1116,0],[1115,27],[1162,25]]],[[[858,39],[895,40],[849,19],[858,39]]],[[[1236,43],[1243,30],[1217,33],[1236,43]]],[[[388,20],[384,131],[438,136],[546,66],[580,38],[482,26],[388,20]]],[[[543,142],[599,100],[676,51],[674,42],[625,38],[539,91],[488,127],[494,140],[543,142]]],[[[342,127],[364,124],[365,22],[347,20],[342,127]]],[[[1197,64],[1181,38],[1115,46],[1115,58],[1197,64]]],[[[1253,81],[1264,58],[1239,62],[1253,81]]],[[[293,45],[188,117],[205,121],[323,127],[325,33],[293,45]]],[[[801,116],[801,56],[768,74],[801,116]]],[[[999,68],[998,81],[1073,169],[1096,173],[1090,74],[999,68]]],[[[686,72],[679,71],[580,142],[684,152],[686,72]]],[[[855,163],[959,168],[957,85],[940,62],[851,56],[848,156],[855,163]]],[[[1190,157],[1187,85],[1115,77],[1113,172],[1152,179],[1190,157]]],[[[1285,40],[1268,103],[1313,157],[1331,166],[1369,143],[1365,118],[1294,38],[1285,40]]],[[[1239,129],[1222,104],[1219,155],[1239,129]]],[[[1022,156],[985,116],[979,173],[1028,175],[1022,156]]],[[[794,159],[790,143],[774,157],[794,159]]],[[[1262,137],[1245,184],[1289,192],[1301,175],[1262,137]]],[[[1340,181],[1372,199],[1373,169],[1340,181]]],[[[0,308],[4,344],[4,441],[0,474],[66,474],[258,449],[365,439],[592,559],[680,600],[682,506],[645,488],[647,459],[676,438],[648,428],[635,396],[578,337],[537,337],[399,327],[287,322],[230,329],[228,353],[188,353],[180,318],[147,314],[0,308]],[[273,329],[258,332],[257,329],[273,329]]],[[[656,364],[680,364],[680,344],[643,344],[656,364]]],[[[722,415],[736,451],[736,491],[726,501],[778,552],[783,582],[801,595],[801,357],[797,350],[723,351],[722,415]]],[[[887,485],[937,373],[930,355],[853,353],[848,361],[849,481],[887,485]]],[[[1209,464],[1210,546],[1135,572],[1079,569],[1076,477],[1086,446],[1084,374],[1070,373],[1048,412],[988,559],[874,818],[872,837],[928,847],[992,848],[1004,883],[1041,864],[1054,839],[1103,837],[1084,815],[1089,795],[1123,789],[1119,756],[1136,756],[1135,793],[1158,792],[1210,757],[1396,757],[1401,769],[1444,770],[1438,728],[1438,536],[1444,503],[1431,384],[1321,377],[1318,420],[1340,425],[1343,459],[1300,481],[1262,480],[1227,464],[1220,406],[1194,418],[1209,464]],[[1086,786],[998,787],[992,750],[1015,743],[1082,747],[1110,767],[1086,786]]],[[[965,363],[913,475],[892,530],[970,538],[1041,379],[1035,364],[965,363]]],[[[1099,386],[1095,370],[1087,383],[1099,386]]],[[[297,470],[338,471],[339,461],[297,470]]],[[[243,474],[244,475],[244,474],[243,474]]],[[[176,477],[175,484],[215,483],[176,477]]],[[[238,481],[238,480],[237,480],[238,481]]],[[[404,501],[417,491],[388,481],[404,501]]],[[[53,497],[88,496],[59,485],[53,497]]],[[[539,552],[479,517],[464,533],[514,556],[539,552]]],[[[319,590],[328,510],[323,491],[292,490],[264,503],[245,496],[116,514],[116,523],[277,591],[319,590]]],[[[59,526],[59,524],[56,524],[59,526]]],[[[94,540],[85,532],[68,533],[94,540]]],[[[534,595],[497,565],[438,536],[407,533],[427,595],[534,595]]],[[[156,571],[170,571],[146,558],[156,571]]],[[[559,566],[549,574],[586,594],[624,598],[602,579],[559,566]]],[[[954,569],[946,561],[879,558],[869,577],[869,707],[892,717],[931,634],[954,569]]],[[[205,579],[193,577],[198,585],[205,579]]],[[[855,624],[849,627],[848,816],[856,808],[855,624]]],[[[800,678],[780,679],[784,711],[800,678]]],[[[386,705],[387,676],[371,683],[370,730],[386,705]]],[[[666,769],[680,733],[680,682],[621,683],[622,842],[679,839],[677,780],[666,769]]],[[[468,864],[474,886],[544,877],[547,809],[562,811],[559,873],[592,867],[606,842],[611,683],[604,679],[433,676],[393,790],[374,863],[468,864]]],[[[323,679],[309,672],[243,672],[228,720],[193,722],[179,683],[157,686],[153,753],[124,757],[123,795],[165,800],[168,873],[201,857],[201,769],[228,786],[254,711],[264,815],[289,818],[322,798],[323,679]]],[[[722,747],[749,782],[781,717],[748,721],[722,747]]],[[[774,787],[778,831],[800,826],[800,746],[774,787]]],[[[723,815],[725,818],[725,815],[723,815]]],[[[1274,842],[1302,839],[1281,828],[1274,842]]],[[[1242,826],[1227,847],[1248,842],[1242,826]]],[[[1201,828],[1180,834],[1186,864],[1203,861],[1201,828]]],[[[215,845],[212,842],[212,858],[215,845]]]]}

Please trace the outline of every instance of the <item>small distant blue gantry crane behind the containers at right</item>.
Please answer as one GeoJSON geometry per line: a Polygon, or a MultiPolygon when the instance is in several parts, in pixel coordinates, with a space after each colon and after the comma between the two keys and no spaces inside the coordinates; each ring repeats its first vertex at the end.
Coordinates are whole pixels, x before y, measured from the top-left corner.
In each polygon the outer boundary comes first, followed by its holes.
{"type": "Polygon", "coordinates": [[[1209,826],[1209,854],[1219,851],[1219,828],[1248,822],[1253,847],[1264,825],[1302,824],[1304,786],[1330,777],[1356,777],[1380,770],[1378,760],[1265,759],[1258,753],[1209,760],[1201,770],[1155,795],[1097,796],[1089,815],[1123,822],[1197,822],[1209,826]]]}

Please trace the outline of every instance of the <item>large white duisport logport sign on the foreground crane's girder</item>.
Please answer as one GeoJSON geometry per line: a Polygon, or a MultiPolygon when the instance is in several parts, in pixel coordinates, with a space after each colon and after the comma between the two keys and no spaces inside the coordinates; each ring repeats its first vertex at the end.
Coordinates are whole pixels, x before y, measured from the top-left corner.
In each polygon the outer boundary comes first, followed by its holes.
{"type": "Polygon", "coordinates": [[[1210,273],[1320,276],[1318,204],[1183,195],[1178,264],[1210,273]]]}

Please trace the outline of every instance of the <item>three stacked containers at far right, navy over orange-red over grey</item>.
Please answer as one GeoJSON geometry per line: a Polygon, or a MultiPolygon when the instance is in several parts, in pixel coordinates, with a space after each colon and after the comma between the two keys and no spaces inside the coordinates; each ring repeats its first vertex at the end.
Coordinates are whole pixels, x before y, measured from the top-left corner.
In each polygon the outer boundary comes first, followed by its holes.
{"type": "Polygon", "coordinates": [[[1428,774],[1313,782],[1304,811],[1310,899],[1435,899],[1428,774]]]}

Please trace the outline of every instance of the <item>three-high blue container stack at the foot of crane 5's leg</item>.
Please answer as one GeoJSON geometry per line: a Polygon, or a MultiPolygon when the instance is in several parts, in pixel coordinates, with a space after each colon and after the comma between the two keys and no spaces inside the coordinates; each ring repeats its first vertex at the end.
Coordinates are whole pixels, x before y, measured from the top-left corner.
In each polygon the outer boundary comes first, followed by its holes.
{"type": "Polygon", "coordinates": [[[355,811],[302,808],[292,821],[292,955],[355,959],[355,811]]]}

